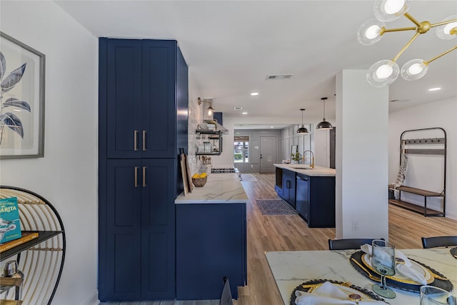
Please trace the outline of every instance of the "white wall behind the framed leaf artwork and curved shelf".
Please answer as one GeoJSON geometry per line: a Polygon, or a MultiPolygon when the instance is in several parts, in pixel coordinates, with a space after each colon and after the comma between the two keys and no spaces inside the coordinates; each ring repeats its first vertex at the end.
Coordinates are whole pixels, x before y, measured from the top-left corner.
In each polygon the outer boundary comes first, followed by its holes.
{"type": "Polygon", "coordinates": [[[46,55],[44,158],[2,159],[0,183],[59,211],[67,248],[53,304],[88,304],[97,287],[98,41],[53,1],[1,1],[0,22],[46,55]]]}

